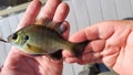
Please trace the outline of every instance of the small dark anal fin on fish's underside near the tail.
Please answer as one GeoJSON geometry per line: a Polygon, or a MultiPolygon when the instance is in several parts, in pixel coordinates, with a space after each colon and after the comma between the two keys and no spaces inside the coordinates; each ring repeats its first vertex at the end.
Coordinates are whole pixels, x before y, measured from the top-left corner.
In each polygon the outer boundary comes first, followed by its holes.
{"type": "Polygon", "coordinates": [[[59,51],[53,52],[53,53],[50,53],[50,54],[48,54],[48,56],[50,58],[52,58],[53,61],[59,61],[59,60],[62,58],[62,50],[59,50],[59,51]]]}

